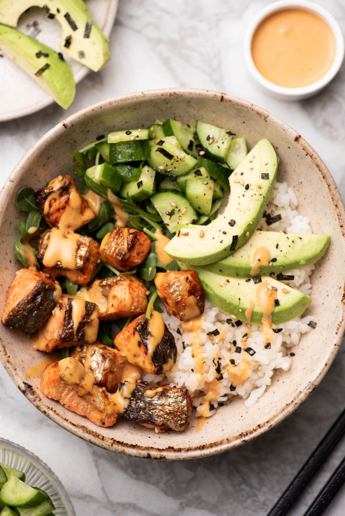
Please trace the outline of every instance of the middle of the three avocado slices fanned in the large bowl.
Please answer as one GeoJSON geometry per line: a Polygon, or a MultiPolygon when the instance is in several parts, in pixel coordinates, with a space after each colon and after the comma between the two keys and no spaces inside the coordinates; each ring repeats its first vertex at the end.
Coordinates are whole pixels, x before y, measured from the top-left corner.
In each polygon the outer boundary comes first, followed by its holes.
{"type": "Polygon", "coordinates": [[[256,231],[234,254],[204,267],[223,276],[248,278],[252,275],[253,254],[264,247],[268,250],[269,264],[260,265],[259,271],[253,270],[253,276],[268,276],[317,262],[330,241],[328,235],[256,231]]]}

